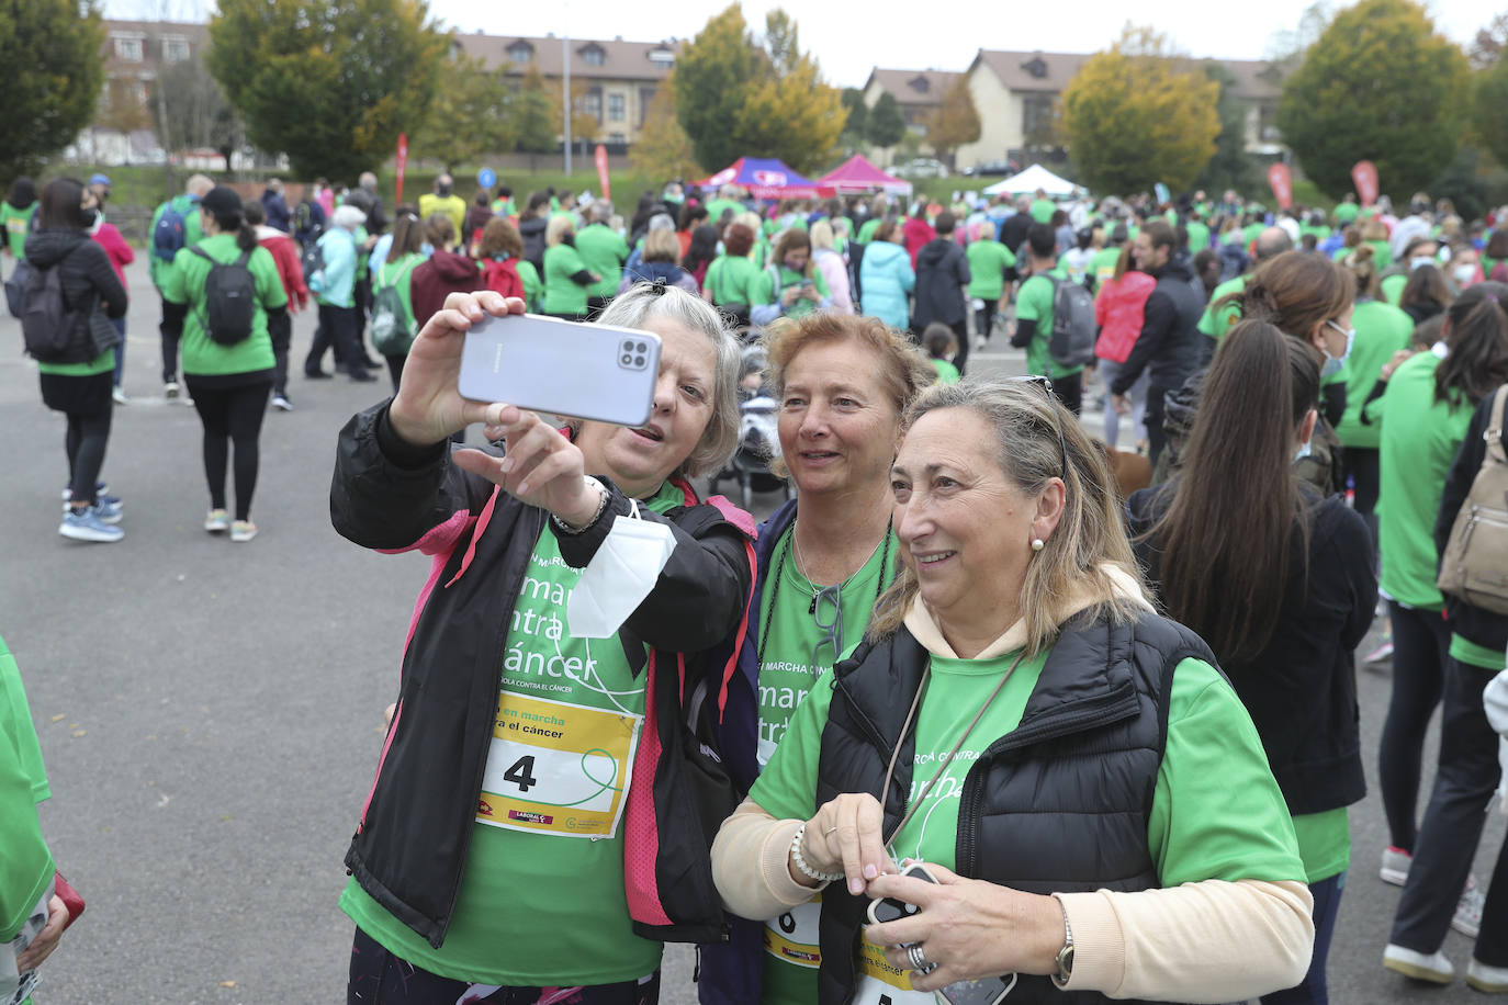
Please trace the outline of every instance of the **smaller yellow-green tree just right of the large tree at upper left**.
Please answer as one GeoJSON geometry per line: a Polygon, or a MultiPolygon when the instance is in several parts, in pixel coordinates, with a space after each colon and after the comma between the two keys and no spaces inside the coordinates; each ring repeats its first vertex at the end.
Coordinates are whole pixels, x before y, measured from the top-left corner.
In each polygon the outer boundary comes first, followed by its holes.
{"type": "Polygon", "coordinates": [[[487,154],[511,152],[517,143],[513,92],[502,72],[475,56],[457,54],[434,104],[409,136],[409,154],[433,158],[452,172],[481,163],[487,154]],[[464,124],[464,128],[457,128],[464,124]]]}

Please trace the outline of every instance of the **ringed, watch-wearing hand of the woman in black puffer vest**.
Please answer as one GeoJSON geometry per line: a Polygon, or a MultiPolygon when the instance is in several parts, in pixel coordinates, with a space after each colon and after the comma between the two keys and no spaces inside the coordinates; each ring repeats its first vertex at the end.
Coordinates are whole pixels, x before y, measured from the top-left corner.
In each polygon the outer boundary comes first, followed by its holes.
{"type": "Polygon", "coordinates": [[[885,958],[911,970],[911,985],[935,991],[953,981],[1003,973],[1056,973],[1063,948],[1063,909],[1057,898],[1022,894],[1009,886],[965,880],[927,862],[936,883],[909,875],[881,875],[870,897],[893,897],[921,910],[909,918],[870,925],[864,937],[885,948],[885,958]],[[936,969],[921,975],[902,946],[920,945],[936,969]]]}

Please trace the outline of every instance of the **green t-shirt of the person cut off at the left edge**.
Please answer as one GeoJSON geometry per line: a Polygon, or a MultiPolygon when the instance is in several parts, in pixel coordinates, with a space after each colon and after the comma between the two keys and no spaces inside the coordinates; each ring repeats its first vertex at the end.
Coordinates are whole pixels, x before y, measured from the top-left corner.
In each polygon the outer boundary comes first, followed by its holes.
{"type": "Polygon", "coordinates": [[[0,943],[15,939],[53,881],[36,805],[51,796],[21,672],[0,639],[0,943]]]}

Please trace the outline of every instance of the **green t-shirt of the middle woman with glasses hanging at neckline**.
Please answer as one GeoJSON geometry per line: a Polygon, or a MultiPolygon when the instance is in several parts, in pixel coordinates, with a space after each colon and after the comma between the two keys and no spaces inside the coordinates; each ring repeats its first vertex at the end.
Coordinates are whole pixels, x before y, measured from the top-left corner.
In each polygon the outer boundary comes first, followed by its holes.
{"type": "Polygon", "coordinates": [[[807,692],[825,672],[847,655],[864,636],[869,616],[879,592],[894,579],[896,536],[891,533],[875,548],[869,561],[838,589],[841,618],[834,621],[832,604],[823,600],[817,607],[811,582],[796,568],[795,527],[787,527],[775,550],[774,565],[765,583],[760,610],[759,667],[759,762],[763,765],[775,753],[790,716],[807,692]],[[890,570],[884,570],[885,565],[890,570]],[[882,573],[884,570],[884,573],[882,573]],[[778,607],[772,607],[775,601],[778,607]],[[828,631],[817,624],[841,625],[841,637],[828,640],[828,631]]]}

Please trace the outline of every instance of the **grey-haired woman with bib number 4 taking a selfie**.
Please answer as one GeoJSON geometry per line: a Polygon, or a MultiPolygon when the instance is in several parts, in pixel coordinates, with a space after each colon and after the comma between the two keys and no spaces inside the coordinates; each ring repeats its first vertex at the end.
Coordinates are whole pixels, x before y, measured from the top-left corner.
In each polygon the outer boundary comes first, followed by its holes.
{"type": "Polygon", "coordinates": [[[724,925],[706,794],[677,788],[670,752],[683,701],[721,714],[731,667],[707,651],[739,633],[752,585],[752,520],[688,481],[737,443],[739,348],[700,298],[639,286],[602,322],[662,339],[650,420],[562,432],[457,392],[466,330],[510,312],[523,301],[452,294],[398,395],[341,434],[336,530],[434,564],[345,859],[353,1002],[650,1003],[661,940],[724,925]],[[472,422],[507,454],[452,451],[472,422]],[[582,570],[630,532],[673,541],[670,557],[638,589],[593,586],[636,606],[606,637],[575,634],[582,570]]]}

